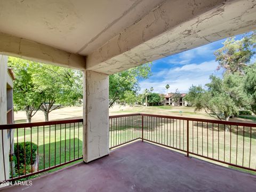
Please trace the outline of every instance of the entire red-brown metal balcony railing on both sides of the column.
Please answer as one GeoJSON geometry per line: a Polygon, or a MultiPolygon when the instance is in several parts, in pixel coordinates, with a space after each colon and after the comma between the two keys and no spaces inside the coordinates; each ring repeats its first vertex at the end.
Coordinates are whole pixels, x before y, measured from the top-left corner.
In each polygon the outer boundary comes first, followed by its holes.
{"type": "MultiPolygon", "coordinates": [[[[82,125],[83,119],[0,125],[0,173],[4,181],[27,178],[82,159],[82,125]]],[[[256,171],[255,123],[151,114],[109,116],[110,149],[134,140],[179,150],[187,157],[199,156],[256,171]]]]}

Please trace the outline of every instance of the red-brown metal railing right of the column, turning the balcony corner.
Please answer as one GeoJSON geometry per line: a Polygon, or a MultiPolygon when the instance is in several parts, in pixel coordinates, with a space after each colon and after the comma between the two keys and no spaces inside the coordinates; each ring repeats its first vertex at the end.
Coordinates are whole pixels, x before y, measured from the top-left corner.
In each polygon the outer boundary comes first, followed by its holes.
{"type": "Polygon", "coordinates": [[[109,117],[110,148],[137,139],[256,171],[255,123],[152,114],[109,117]]]}

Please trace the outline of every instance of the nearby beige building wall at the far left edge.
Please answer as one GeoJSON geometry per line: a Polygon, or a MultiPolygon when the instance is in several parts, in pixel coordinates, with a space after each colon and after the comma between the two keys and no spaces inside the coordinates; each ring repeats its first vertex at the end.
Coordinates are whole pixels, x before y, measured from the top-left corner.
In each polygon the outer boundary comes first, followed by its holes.
{"type": "MultiPolygon", "coordinates": [[[[0,124],[12,124],[13,121],[13,80],[12,69],[7,67],[8,57],[0,55],[0,124]]],[[[9,157],[14,153],[14,131],[0,131],[0,181],[9,178],[9,157]],[[3,135],[2,135],[3,134],[3,135]],[[4,147],[2,146],[4,143],[4,147]],[[10,144],[11,143],[11,144],[10,144]],[[11,147],[10,147],[11,146],[11,147]],[[3,153],[4,148],[4,153],[3,153]],[[10,150],[12,149],[12,150],[10,150]],[[11,153],[12,151],[12,153],[11,153]],[[4,175],[5,167],[5,175],[4,175]]]]}

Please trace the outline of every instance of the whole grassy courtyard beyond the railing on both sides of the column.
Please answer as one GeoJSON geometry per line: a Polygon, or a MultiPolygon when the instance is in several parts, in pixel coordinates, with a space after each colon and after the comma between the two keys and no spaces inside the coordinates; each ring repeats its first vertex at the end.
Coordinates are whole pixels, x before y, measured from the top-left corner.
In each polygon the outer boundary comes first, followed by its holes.
{"type": "MultiPolygon", "coordinates": [[[[194,112],[192,107],[117,107],[110,109],[110,115],[146,113],[182,117],[212,119],[203,111],[194,112]],[[182,111],[182,112],[181,112],[182,111]]],[[[44,121],[44,116],[37,114],[34,121],[44,121]]],[[[14,114],[15,122],[24,123],[23,111],[14,114]]],[[[50,114],[50,120],[82,118],[82,107],[64,107],[50,114]],[[79,116],[80,115],[80,116],[79,116]]],[[[110,146],[116,146],[126,141],[141,137],[141,119],[120,118],[110,119],[110,146]],[[129,120],[129,121],[128,121],[129,120]]],[[[255,122],[255,116],[240,116],[230,121],[255,122]]],[[[256,130],[250,127],[231,127],[231,132],[225,132],[223,125],[189,124],[189,151],[229,163],[244,165],[255,169],[256,166],[256,130]],[[249,158],[250,157],[250,158],[249,158]]],[[[144,138],[162,143],[163,145],[186,150],[186,122],[173,119],[145,118],[144,138]]],[[[28,127],[19,129],[18,137],[15,131],[14,140],[17,142],[32,141],[38,145],[39,170],[68,162],[82,157],[82,123],[54,125],[45,127],[28,127]],[[24,137],[25,135],[25,137],[24,137]],[[32,140],[31,140],[32,139],[32,140]],[[65,158],[66,157],[66,158],[65,158]]],[[[228,166],[228,165],[225,165],[228,166]]],[[[29,169],[29,168],[28,168],[29,169]]],[[[250,172],[250,171],[249,171],[250,172]]],[[[251,172],[254,173],[255,172],[251,172]]]]}

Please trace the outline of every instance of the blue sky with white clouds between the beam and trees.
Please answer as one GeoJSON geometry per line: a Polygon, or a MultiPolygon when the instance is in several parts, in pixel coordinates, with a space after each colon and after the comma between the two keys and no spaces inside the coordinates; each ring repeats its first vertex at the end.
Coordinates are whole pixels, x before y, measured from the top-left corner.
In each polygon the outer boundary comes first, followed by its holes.
{"type": "MultiPolygon", "coordinates": [[[[242,37],[243,35],[237,35],[236,39],[242,37]]],[[[153,61],[153,75],[140,82],[140,93],[151,86],[156,93],[166,93],[166,84],[170,85],[168,92],[175,92],[178,88],[180,93],[187,93],[192,84],[204,86],[209,83],[211,74],[221,76],[222,71],[216,70],[218,62],[213,53],[223,46],[225,40],[153,61]]]]}

